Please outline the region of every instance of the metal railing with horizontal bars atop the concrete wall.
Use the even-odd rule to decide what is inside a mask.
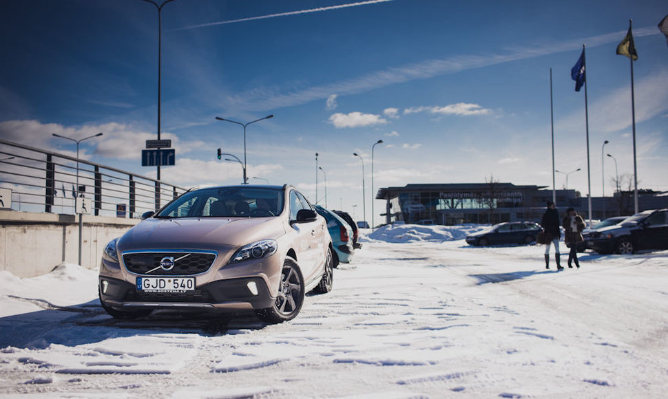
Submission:
[[[0,140],[0,188],[12,190],[12,210],[76,213],[76,193],[90,198],[92,215],[138,218],[157,211],[187,188],[69,155]],[[77,172],[79,190],[76,189]]]

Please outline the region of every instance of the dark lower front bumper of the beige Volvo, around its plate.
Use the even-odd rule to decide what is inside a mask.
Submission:
[[[249,288],[255,286],[255,293]],[[180,309],[189,311],[233,312],[270,308],[275,297],[261,277],[226,279],[179,293],[142,292],[127,281],[100,276],[100,299],[108,308],[120,311],[139,309]]]

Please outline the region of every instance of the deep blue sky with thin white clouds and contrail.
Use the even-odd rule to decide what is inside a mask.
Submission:
[[[82,158],[140,166],[157,138],[157,19],[141,0],[0,3],[0,137],[73,153],[59,133],[101,140]],[[315,153],[330,208],[370,219],[375,189],[410,183],[552,186],[556,169],[587,194],[584,90],[570,69],[587,45],[592,195],[633,172],[629,59],[615,54],[629,18],[640,188],[668,191],[665,1],[175,0],[163,8],[162,133],[176,149],[163,180],[237,184],[248,122],[248,175],[298,186],[315,202]],[[324,203],[325,175],[318,175]],[[264,180],[251,180],[262,183]],[[557,188],[565,176],[556,175]],[[356,205],[357,207],[354,207]],[[375,203],[376,213],[384,211]],[[377,216],[377,222],[379,217]]]

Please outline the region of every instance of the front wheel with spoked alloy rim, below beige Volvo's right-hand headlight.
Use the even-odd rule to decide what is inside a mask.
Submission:
[[[304,277],[295,259],[286,257],[276,301],[271,308],[256,313],[266,323],[283,323],[294,319],[304,303]]]

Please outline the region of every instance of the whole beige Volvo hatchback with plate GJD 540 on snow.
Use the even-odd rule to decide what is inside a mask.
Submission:
[[[99,295],[117,318],[253,309],[280,323],[332,281],[331,237],[304,195],[289,185],[220,186],[188,191],[109,242]]]

